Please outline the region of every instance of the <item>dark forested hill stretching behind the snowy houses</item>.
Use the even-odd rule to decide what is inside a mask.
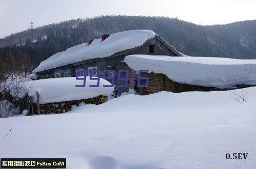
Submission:
[[[68,47],[120,31],[156,32],[180,52],[197,57],[256,59],[256,20],[202,26],[168,17],[101,16],[50,24],[0,39],[0,57],[19,51],[37,66]]]

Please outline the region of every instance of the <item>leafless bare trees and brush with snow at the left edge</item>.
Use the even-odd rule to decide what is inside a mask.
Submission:
[[[12,52],[5,60],[0,58],[0,118],[13,116],[18,111],[18,98],[23,97],[33,85],[32,81],[20,76],[24,74],[19,69],[20,63],[15,62]]]

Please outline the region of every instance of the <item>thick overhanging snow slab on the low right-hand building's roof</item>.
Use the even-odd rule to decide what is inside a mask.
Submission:
[[[128,55],[125,63],[132,69],[163,73],[188,85],[229,88],[256,85],[256,60],[205,57],[169,57],[165,55]]]

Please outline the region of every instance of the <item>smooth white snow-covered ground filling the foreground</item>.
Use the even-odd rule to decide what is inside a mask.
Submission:
[[[242,103],[230,91],[160,92],[0,119],[0,157],[67,158],[67,168],[76,169],[253,168],[256,87],[246,91]],[[226,153],[248,156],[227,160]]]

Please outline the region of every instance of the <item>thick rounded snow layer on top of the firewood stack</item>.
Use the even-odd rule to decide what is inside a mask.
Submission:
[[[49,78],[40,80],[31,80],[19,83],[18,97],[22,98],[28,92],[29,96],[33,96],[36,103],[36,93],[39,93],[39,101],[43,103],[52,103],[69,100],[79,100],[96,97],[99,95],[110,95],[114,88],[103,88],[103,85],[111,85],[109,81],[100,78],[98,88],[91,88],[89,85],[97,85],[97,80],[86,79],[86,87],[77,88],[76,85],[82,85],[83,80],[76,80],[76,77]],[[10,93],[12,94],[11,88]],[[16,95],[17,96],[17,95]]]

